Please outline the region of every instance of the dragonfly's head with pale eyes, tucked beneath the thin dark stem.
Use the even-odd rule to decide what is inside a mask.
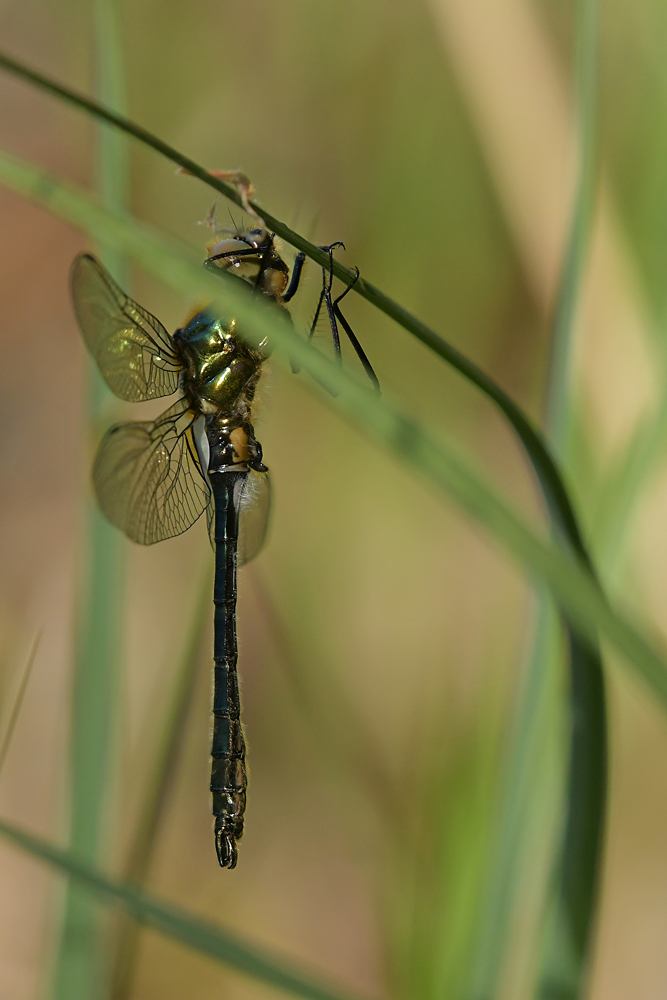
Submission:
[[[207,264],[242,278],[269,298],[277,299],[285,291],[289,268],[276,249],[275,236],[266,229],[234,233],[210,243],[207,252]]]

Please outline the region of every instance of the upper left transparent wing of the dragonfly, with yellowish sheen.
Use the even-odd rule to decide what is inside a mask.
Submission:
[[[86,346],[111,391],[131,403],[176,392],[181,364],[162,323],[91,254],[75,258],[70,285]]]

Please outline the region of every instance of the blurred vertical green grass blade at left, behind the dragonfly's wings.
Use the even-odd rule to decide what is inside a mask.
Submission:
[[[115,0],[95,0],[97,90],[105,103],[123,100],[123,67]],[[128,187],[127,137],[100,124],[98,187],[110,210],[125,208]],[[125,282],[122,255],[99,240],[100,255]],[[89,365],[88,423],[95,436],[104,421],[109,390]],[[72,850],[93,863],[100,861],[108,838],[113,787],[114,730],[121,666],[124,541],[88,500],[84,544],[86,579],[79,600],[78,641],[74,663],[70,747],[70,829]],[[54,1000],[87,1000],[107,995],[105,927],[97,899],[69,883],[60,949],[54,970]]]

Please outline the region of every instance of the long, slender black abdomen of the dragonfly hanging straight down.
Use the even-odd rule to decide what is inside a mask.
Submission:
[[[211,472],[215,500],[215,605],[211,792],[215,848],[223,868],[236,865],[246,800],[245,740],[236,672],[236,546],[247,472]]]

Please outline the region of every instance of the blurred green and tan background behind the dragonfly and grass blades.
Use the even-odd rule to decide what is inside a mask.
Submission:
[[[599,183],[558,450],[609,591],[660,637],[667,15],[657,0],[600,6]],[[571,4],[141,0],[117,12],[134,120],[206,166],[243,169],[259,201],[308,238],[344,240],[344,263],[543,423],[575,182]],[[92,94],[99,23],[87,0],[0,0],[1,47]],[[97,126],[7,76],[0,146],[99,187]],[[136,143],[128,199],[140,219],[203,248],[198,223],[213,192]],[[492,994],[530,996],[562,819],[564,676],[557,637],[536,647],[539,605],[523,574],[342,422],[306,376],[270,366],[257,430],[273,476],[271,535],[239,579],[247,824],[238,868],[220,871],[207,790],[205,526],[147,549],[100,527],[89,470],[102,431],[160,407],[127,407],[94,389],[68,297],[85,238],[4,190],[0,205],[5,726],[38,640],[0,771],[0,815],[66,842],[76,753],[79,766],[81,754],[97,760],[95,723],[74,764],[71,750],[81,730],[75,665],[92,629],[112,671],[91,779],[105,870],[140,877],[369,997],[471,997],[537,648],[532,770]],[[220,225],[227,211],[221,200]],[[235,208],[232,217],[243,221]],[[193,305],[138,270],[125,280],[170,329]],[[319,281],[307,265],[299,323]],[[350,295],[346,306],[383,391],[472,453],[542,525],[530,471],[490,404],[365,302]],[[327,349],[324,327],[317,342]],[[91,569],[95,545],[102,556]],[[95,572],[109,590],[102,624],[90,619]],[[606,663],[611,805],[591,995],[657,1000],[667,989],[667,726],[643,687],[613,657]],[[0,842],[0,883],[0,996],[64,997],[63,922],[75,926],[64,880]],[[81,995],[273,995],[150,931],[133,937],[117,914],[88,905],[99,979]]]

